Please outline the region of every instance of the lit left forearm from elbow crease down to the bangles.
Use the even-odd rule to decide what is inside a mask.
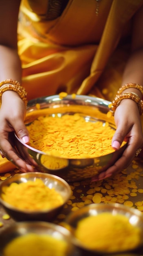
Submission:
[[[0,81],[17,80],[21,83],[22,68],[17,49],[0,45]]]

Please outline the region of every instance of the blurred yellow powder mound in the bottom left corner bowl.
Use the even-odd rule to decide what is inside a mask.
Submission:
[[[31,233],[11,241],[5,247],[3,256],[66,256],[67,249],[64,240]]]

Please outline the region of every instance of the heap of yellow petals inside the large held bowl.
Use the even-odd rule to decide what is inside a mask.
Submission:
[[[64,158],[99,157],[113,152],[113,130],[108,122],[86,122],[79,114],[41,116],[27,126],[30,146]],[[66,163],[57,163],[65,166]]]

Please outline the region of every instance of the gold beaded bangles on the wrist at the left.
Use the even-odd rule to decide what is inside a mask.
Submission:
[[[22,87],[22,85],[20,85],[18,81],[13,79],[7,79],[0,82],[0,106],[2,103],[2,94],[9,90],[17,92],[20,98],[24,101],[25,106],[27,106],[26,90]]]

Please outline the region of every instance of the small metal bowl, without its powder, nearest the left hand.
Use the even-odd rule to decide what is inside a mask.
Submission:
[[[5,186],[9,186],[11,183],[16,182],[18,184],[22,182],[27,182],[29,180],[34,181],[36,178],[41,179],[44,184],[49,187],[50,189],[54,188],[57,193],[59,193],[63,198],[63,204],[58,207],[53,207],[48,210],[22,210],[16,207],[13,207],[11,204],[5,202],[2,199],[2,189]],[[40,173],[40,172],[33,172],[33,173],[21,173],[15,176],[9,177],[3,182],[0,183],[0,203],[7,211],[9,216],[11,216],[14,220],[17,221],[26,221],[26,220],[39,220],[39,221],[51,221],[53,220],[59,211],[62,209],[64,204],[68,201],[71,195],[71,189],[68,183],[63,180],[62,178],[51,175],[48,173]]]

